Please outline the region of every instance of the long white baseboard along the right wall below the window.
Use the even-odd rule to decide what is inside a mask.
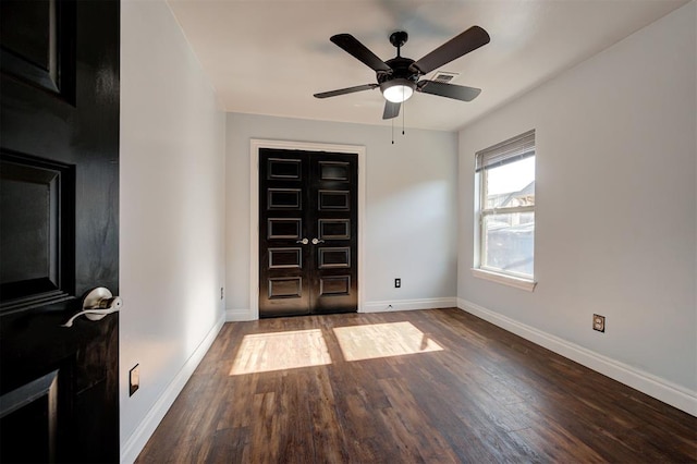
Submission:
[[[697,416],[697,392],[518,322],[463,298],[457,307],[671,406]]]

